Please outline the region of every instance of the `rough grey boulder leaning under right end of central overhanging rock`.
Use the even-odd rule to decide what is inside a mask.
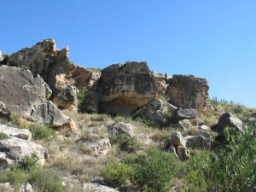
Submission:
[[[139,109],[134,115],[133,118],[140,117],[142,119],[148,119],[153,121],[155,124],[164,126],[170,124],[170,117],[168,114],[172,114],[168,106],[165,106],[165,103],[160,99],[157,99],[153,102],[150,102],[148,106]]]

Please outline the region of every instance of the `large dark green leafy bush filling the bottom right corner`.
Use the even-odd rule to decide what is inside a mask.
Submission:
[[[188,183],[205,186],[207,191],[256,190],[256,136],[253,122],[244,135],[225,131],[224,145],[193,160],[196,177]],[[191,174],[191,173],[190,173]],[[204,179],[200,179],[204,178]]]

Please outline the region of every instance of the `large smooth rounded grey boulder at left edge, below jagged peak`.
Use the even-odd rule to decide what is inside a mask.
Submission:
[[[45,101],[48,85],[32,73],[8,66],[0,66],[0,101],[11,112],[30,116],[35,106]]]

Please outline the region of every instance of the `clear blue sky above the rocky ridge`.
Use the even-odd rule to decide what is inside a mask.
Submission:
[[[148,61],[159,73],[193,74],[210,97],[256,108],[255,0],[0,0],[0,50],[44,38],[71,61],[108,67]]]

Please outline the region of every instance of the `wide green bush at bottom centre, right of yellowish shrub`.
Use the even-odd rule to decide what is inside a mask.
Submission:
[[[172,178],[177,177],[182,170],[181,162],[178,162],[173,154],[158,148],[149,148],[146,154],[127,159],[125,163],[134,171],[131,182],[143,191],[170,191]]]

